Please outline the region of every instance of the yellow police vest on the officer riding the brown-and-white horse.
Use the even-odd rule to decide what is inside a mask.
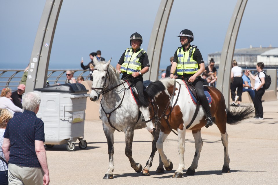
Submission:
[[[177,73],[178,75],[185,74],[194,74],[199,70],[197,61],[193,60],[193,53],[195,52],[197,46],[191,46],[188,51],[183,51],[182,47],[179,47],[177,50],[178,54],[178,66]]]

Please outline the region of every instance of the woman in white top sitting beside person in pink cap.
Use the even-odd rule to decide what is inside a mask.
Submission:
[[[8,109],[12,114],[14,114],[14,112],[22,112],[22,109],[12,102],[11,95],[12,90],[10,88],[3,88],[0,97],[0,108]]]

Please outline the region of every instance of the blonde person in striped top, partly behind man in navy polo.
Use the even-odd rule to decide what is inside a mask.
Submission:
[[[3,136],[12,113],[7,109],[0,109],[0,184],[8,185],[8,164],[2,150]]]

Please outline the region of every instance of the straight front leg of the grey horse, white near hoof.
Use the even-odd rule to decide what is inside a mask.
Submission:
[[[113,129],[108,129],[103,124],[103,131],[107,140],[108,145],[108,155],[109,155],[109,168],[105,173],[103,179],[113,179],[113,171],[114,171],[114,131]]]

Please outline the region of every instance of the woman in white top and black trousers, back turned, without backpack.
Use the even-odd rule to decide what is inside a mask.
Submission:
[[[242,69],[241,67],[237,66],[237,61],[233,60],[233,68],[231,72],[231,81],[233,80],[233,83],[231,84],[231,94],[232,94],[232,104],[231,106],[239,106],[241,102],[241,95],[242,95],[242,89],[243,89],[243,79],[242,79]],[[235,94],[235,90],[237,89],[237,94]],[[236,105],[235,103],[238,102]]]

